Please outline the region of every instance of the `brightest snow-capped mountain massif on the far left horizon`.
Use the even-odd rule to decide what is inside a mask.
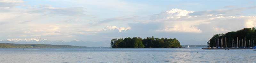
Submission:
[[[7,41],[14,41],[14,42],[51,42],[48,39],[44,38],[30,38],[30,39],[6,39]],[[3,40],[2,40],[3,41]]]

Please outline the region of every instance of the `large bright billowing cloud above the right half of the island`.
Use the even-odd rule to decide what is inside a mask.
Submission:
[[[194,11],[172,9],[160,14],[152,15],[151,21],[160,22],[163,24],[162,29],[156,32],[186,32],[186,33],[201,33],[196,25],[209,23],[201,17],[188,15]]]

